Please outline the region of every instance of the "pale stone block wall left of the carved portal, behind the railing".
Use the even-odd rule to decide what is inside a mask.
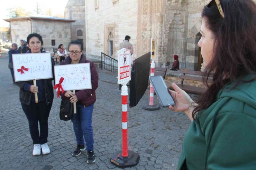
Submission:
[[[117,59],[119,43],[129,35],[134,47],[132,57],[136,58],[138,1],[106,0],[99,1],[95,7],[94,0],[85,1],[87,56],[101,56],[101,52],[109,54],[109,37],[113,36],[113,57]]]

